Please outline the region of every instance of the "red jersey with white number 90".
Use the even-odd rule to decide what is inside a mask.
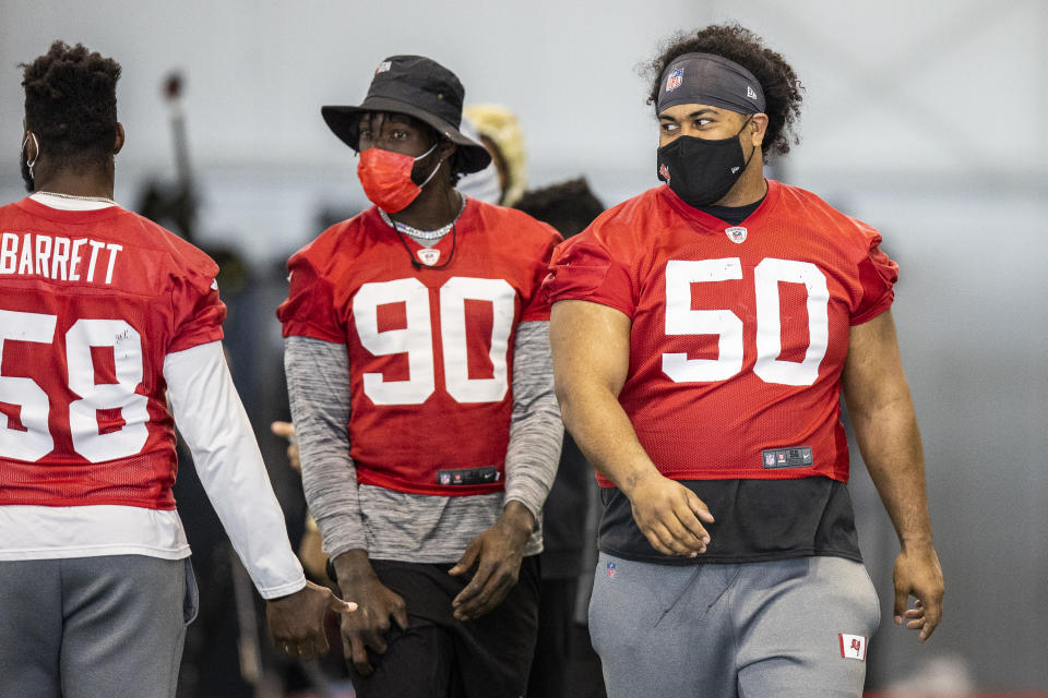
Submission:
[[[358,482],[418,494],[502,489],[516,326],[549,320],[540,288],[559,241],[519,210],[469,198],[433,248],[402,238],[372,207],[290,258],[277,316],[285,337],[346,345]],[[477,468],[492,478],[454,483],[456,470]]]

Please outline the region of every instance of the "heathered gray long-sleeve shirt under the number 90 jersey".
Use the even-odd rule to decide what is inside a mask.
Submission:
[[[455,562],[510,501],[521,502],[538,522],[524,554],[541,552],[543,503],[557,473],[563,434],[553,396],[549,323],[521,323],[513,357],[505,491],[440,496],[357,483],[346,430],[350,366],[345,345],[295,336],[285,340],[306,500],[332,557],[366,550],[372,559]]]

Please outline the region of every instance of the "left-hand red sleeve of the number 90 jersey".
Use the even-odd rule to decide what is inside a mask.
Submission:
[[[290,289],[287,300],[276,309],[284,336],[346,344],[346,328],[335,312],[331,281],[303,252],[291,256],[287,269]]]

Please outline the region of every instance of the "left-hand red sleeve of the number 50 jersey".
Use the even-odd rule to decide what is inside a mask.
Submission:
[[[585,233],[553,251],[549,275],[543,282],[546,301],[580,300],[614,308],[632,317],[636,308],[627,267],[606,245]]]

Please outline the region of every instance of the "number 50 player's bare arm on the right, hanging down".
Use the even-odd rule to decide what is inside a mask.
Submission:
[[[942,616],[943,580],[931,540],[920,432],[891,311],[851,328],[842,385],[862,460],[898,535],[895,623],[905,616],[924,641]],[[910,595],[916,607],[907,611]]]

